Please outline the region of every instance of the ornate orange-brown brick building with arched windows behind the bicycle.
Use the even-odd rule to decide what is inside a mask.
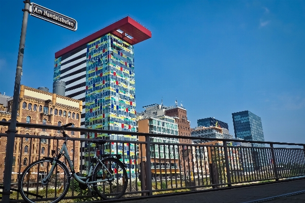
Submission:
[[[0,109],[0,120],[9,121],[11,119],[12,101],[8,101],[8,107]],[[62,95],[56,95],[51,92],[26,87],[21,85],[19,96],[19,107],[17,122],[35,123],[45,125],[64,125],[73,123],[75,127],[80,126],[80,113],[82,111],[82,101],[69,98]],[[0,132],[5,133],[8,126],[0,126]],[[62,136],[57,130],[36,129],[18,127],[18,134],[50,136],[47,139],[16,138],[13,151],[13,170],[12,180],[17,181],[17,174],[22,173],[24,168],[31,162],[44,156],[51,156],[50,151],[57,146],[54,136]],[[66,131],[72,138],[79,138],[77,131]],[[58,142],[60,148],[63,141]],[[3,178],[7,139],[0,137],[0,179]],[[75,151],[73,143],[68,141],[67,148],[71,159],[74,158],[75,171],[79,171],[79,142],[75,142]]]

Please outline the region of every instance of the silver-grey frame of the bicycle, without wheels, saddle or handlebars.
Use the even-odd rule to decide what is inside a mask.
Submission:
[[[93,166],[94,166],[94,164],[92,163],[92,164],[90,164],[90,168],[89,168],[89,172],[88,172],[88,175],[86,176],[86,177],[80,177],[80,176],[78,176],[76,173],[75,173],[75,171],[74,171],[74,166],[73,166],[73,163],[72,163],[72,160],[71,160],[71,158],[70,158],[70,156],[69,156],[69,153],[68,153],[68,149],[67,149],[67,139],[65,140],[65,142],[64,142],[64,144],[63,144],[63,146],[62,146],[62,149],[60,149],[60,151],[59,151],[59,155],[57,155],[55,158],[54,158],[54,160],[53,160],[53,162],[52,162],[52,167],[51,167],[51,169],[50,169],[50,172],[49,172],[49,174],[43,179],[43,181],[45,181],[45,180],[48,180],[50,177],[51,177],[51,175],[53,174],[53,172],[54,172],[54,169],[55,169],[55,166],[56,166],[56,160],[59,160],[59,158],[62,156],[62,155],[64,155],[64,157],[67,159],[67,161],[68,161],[68,164],[69,164],[69,167],[70,167],[70,173],[72,173],[72,176],[74,177],[74,179],[77,181],[77,182],[79,182],[79,183],[81,183],[81,184],[85,184],[85,185],[89,185],[89,184],[95,184],[95,183],[101,183],[101,182],[106,182],[106,181],[112,181],[112,180],[114,180],[114,177],[112,176],[112,174],[109,172],[109,170],[108,170],[108,168],[103,164],[103,162],[97,157],[97,152],[95,151],[95,153],[94,153],[94,158],[96,158],[96,160],[98,160],[101,164],[102,164],[102,166],[103,166],[103,169],[104,170],[106,170],[107,171],[107,173],[109,173],[109,175],[110,175],[110,178],[108,178],[108,179],[104,179],[104,180],[99,180],[99,181],[91,181],[91,182],[89,182],[89,179],[90,179],[90,177],[92,176],[92,172],[93,172]],[[67,167],[67,165],[65,164],[65,163],[63,163],[66,167]],[[96,164],[95,164],[96,165]],[[67,167],[68,168],[68,167]],[[84,181],[85,180],[85,181]]]

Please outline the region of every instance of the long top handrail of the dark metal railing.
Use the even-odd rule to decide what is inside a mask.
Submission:
[[[0,125],[8,126],[8,125],[10,125],[10,121],[0,121]],[[17,122],[16,126],[17,127],[40,128],[40,129],[53,129],[53,130],[62,129],[62,127],[56,126],[56,125],[43,125],[43,124],[20,123],[20,122]],[[109,134],[125,134],[125,135],[133,134],[135,136],[149,135],[149,137],[158,137],[158,138],[178,138],[178,139],[190,139],[190,140],[208,140],[208,141],[273,144],[273,145],[296,145],[296,146],[305,147],[305,144],[301,144],[301,143],[248,141],[248,140],[220,139],[220,138],[199,138],[199,137],[192,137],[192,136],[173,136],[172,134],[155,134],[155,133],[132,132],[132,131],[102,130],[102,129],[81,128],[81,127],[66,127],[65,129],[70,130],[70,131],[84,131],[84,132],[97,132],[97,133],[109,133]]]

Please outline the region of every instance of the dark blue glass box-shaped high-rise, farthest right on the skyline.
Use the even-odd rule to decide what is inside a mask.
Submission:
[[[261,118],[250,111],[232,113],[235,138],[250,141],[265,141]],[[264,144],[253,144],[264,147]]]

